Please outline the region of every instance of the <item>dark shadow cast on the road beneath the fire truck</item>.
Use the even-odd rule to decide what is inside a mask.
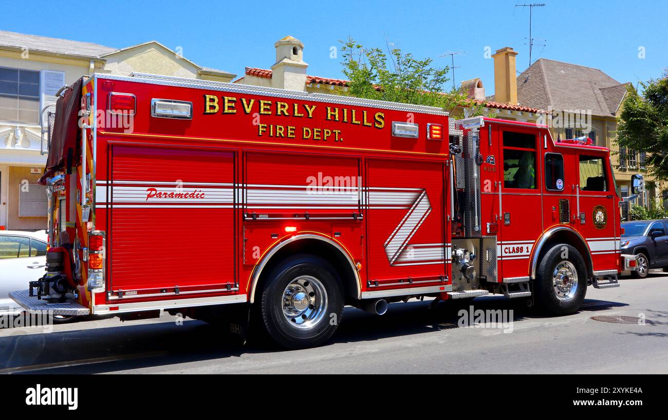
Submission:
[[[393,303],[383,316],[347,307],[345,321],[328,345],[357,343],[457,329],[461,309],[512,309],[514,321],[544,319],[524,299],[480,297],[472,303],[409,301]],[[585,299],[582,312],[626,306],[625,303]],[[81,323],[81,327],[84,324]],[[0,337],[0,373],[105,373],[239,357],[281,353],[267,343],[234,344],[220,327],[202,321],[173,321],[75,329],[53,333]],[[184,368],[186,369],[186,368]],[[248,373],[253,373],[248,372]]]

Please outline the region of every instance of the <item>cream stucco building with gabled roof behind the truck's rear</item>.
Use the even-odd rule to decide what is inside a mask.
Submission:
[[[41,110],[55,94],[92,73],[153,73],[213,81],[236,75],[196,65],[150,41],[122,49],[0,31],[0,229],[45,229],[46,195],[37,185]]]

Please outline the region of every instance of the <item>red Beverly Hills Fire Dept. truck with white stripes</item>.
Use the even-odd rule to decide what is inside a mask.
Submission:
[[[47,273],[11,294],[29,311],[165,310],[242,335],[255,314],[297,348],[345,305],[497,293],[565,314],[635,267],[609,150],[544,125],[93,75],[48,131]]]

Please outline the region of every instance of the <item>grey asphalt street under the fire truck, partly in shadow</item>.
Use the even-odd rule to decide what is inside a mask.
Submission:
[[[668,277],[587,289],[582,310],[545,317],[524,301],[480,297],[475,309],[513,311],[514,322],[460,327],[448,303],[393,303],[381,317],[347,308],[323,347],[240,346],[186,319],[96,319],[0,329],[0,373],[668,373]],[[591,317],[644,319],[643,325]],[[628,320],[628,319],[627,319]],[[512,330],[511,330],[512,328]],[[505,332],[504,332],[505,331]]]

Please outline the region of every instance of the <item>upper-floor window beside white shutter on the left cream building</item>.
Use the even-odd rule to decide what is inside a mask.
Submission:
[[[39,124],[39,71],[0,67],[0,121]]]

